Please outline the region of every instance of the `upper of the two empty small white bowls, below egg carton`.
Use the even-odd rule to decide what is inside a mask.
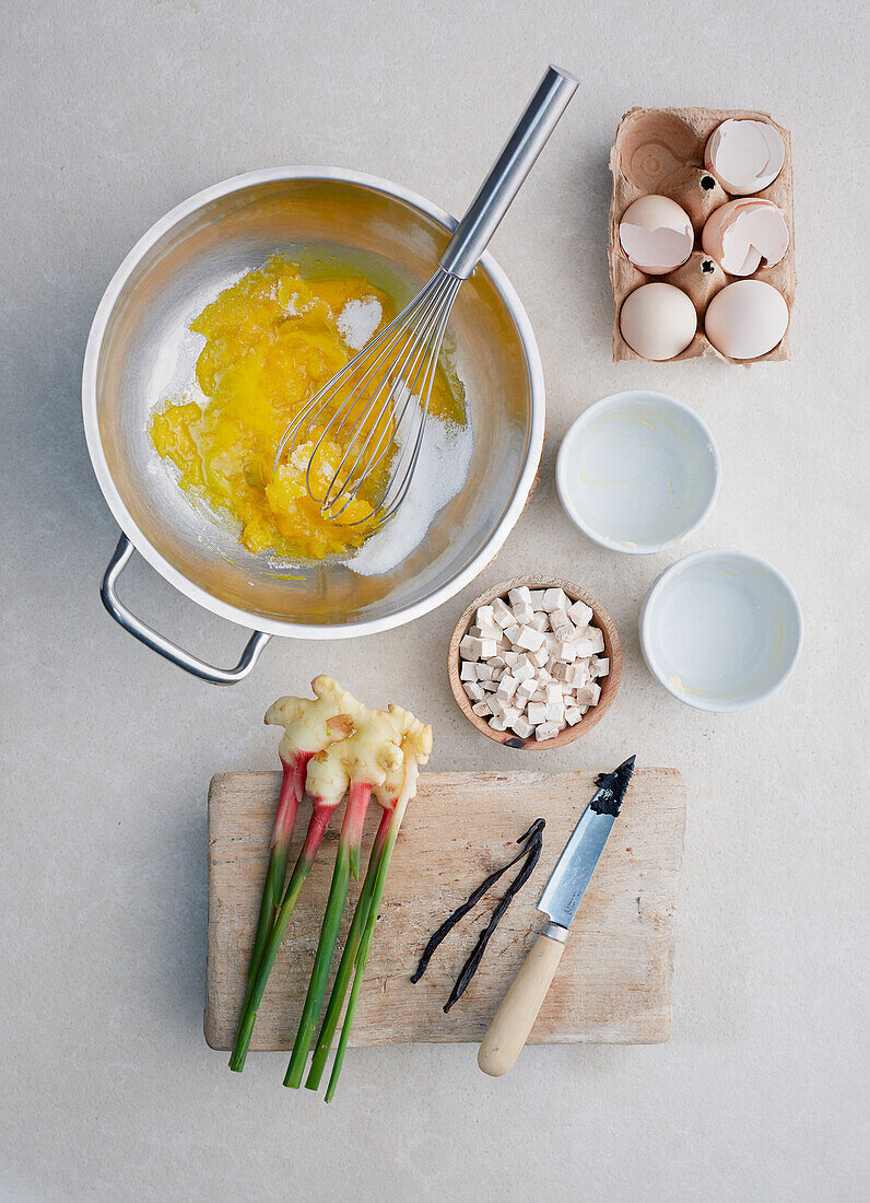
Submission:
[[[559,448],[565,512],[602,547],[633,556],[698,529],[719,492],[719,455],[698,415],[662,392],[615,392],[580,414]]]

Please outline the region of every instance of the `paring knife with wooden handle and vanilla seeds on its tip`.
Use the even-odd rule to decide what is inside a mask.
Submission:
[[[544,885],[537,908],[550,923],[526,954],[477,1053],[478,1066],[493,1078],[507,1073],[537,1019],[562,959],[571,920],[604,851],[633,771],[632,755],[613,772],[596,778],[598,788]]]

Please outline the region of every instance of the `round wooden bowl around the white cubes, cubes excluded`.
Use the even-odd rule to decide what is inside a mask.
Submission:
[[[467,635],[469,627],[473,624],[477,608],[481,605],[489,605],[490,602],[495,600],[495,598],[503,598],[507,600],[508,589],[516,589],[520,585],[525,585],[530,589],[552,589],[561,587],[572,602],[585,602],[585,604],[592,610],[594,624],[600,627],[604,635],[603,654],[610,660],[610,671],[606,677],[601,677],[598,681],[601,685],[601,698],[598,699],[598,704],[596,706],[590,706],[579,723],[574,727],[566,727],[565,730],[554,735],[552,740],[541,740],[540,742],[534,735],[530,739],[522,740],[519,735],[514,735],[511,730],[494,730],[485,718],[481,718],[479,715],[473,712],[471,709],[471,699],[463,689],[463,683],[459,680],[459,664],[461,660],[459,654],[459,644],[465,635]],[[476,727],[482,735],[487,735],[490,740],[495,740],[497,743],[503,743],[510,748],[528,748],[532,752],[546,752],[548,748],[560,748],[566,743],[571,743],[572,740],[579,739],[580,735],[585,735],[586,731],[591,731],[591,729],[604,717],[607,711],[613,705],[613,699],[616,697],[616,692],[619,689],[619,682],[622,678],[622,648],[619,642],[616,628],[614,627],[609,614],[603,609],[603,606],[598,605],[595,598],[586,593],[585,589],[579,588],[577,585],[571,585],[568,581],[559,580],[555,576],[516,576],[511,581],[502,581],[500,585],[494,585],[491,589],[487,589],[485,593],[481,593],[479,597],[475,598],[467,610],[465,610],[461,618],[453,628],[453,634],[451,636],[449,647],[447,650],[447,675],[451,681],[453,697],[457,699],[457,705],[467,721]]]

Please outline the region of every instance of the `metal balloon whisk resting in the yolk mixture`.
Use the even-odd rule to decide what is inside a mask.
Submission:
[[[377,338],[310,398],[284,432],[275,469],[287,448],[291,462],[306,457],[305,487],[330,520],[341,517],[365,481],[375,486],[374,500],[364,517],[348,516],[348,526],[370,522],[375,515],[386,522],[405,499],[419,458],[441,342],[459,286],[477,266],[577,83],[567,72],[548,67],[454,230],[433,278]],[[339,452],[341,458],[333,470]]]

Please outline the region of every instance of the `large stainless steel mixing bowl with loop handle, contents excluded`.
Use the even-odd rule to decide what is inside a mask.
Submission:
[[[441,605],[496,555],[519,517],[541,458],[544,387],[529,319],[490,255],[460,290],[449,337],[473,428],[465,487],[422,544],[391,571],[306,565],[282,580],[191,505],[157,458],[155,405],[192,378],[190,321],[272,253],[303,263],[357,263],[409,296],[429,279],[455,225],[423,197],[359,172],[278,167],[208,188],[157,221],[118,268],[94,318],[82,408],[91,462],[124,535],[102,597],[132,634],[216,683],[240,680],[272,635],[341,639],[387,630]],[[137,618],[117,580],[133,549],[186,597],[255,632],[234,669],[216,669]]]

